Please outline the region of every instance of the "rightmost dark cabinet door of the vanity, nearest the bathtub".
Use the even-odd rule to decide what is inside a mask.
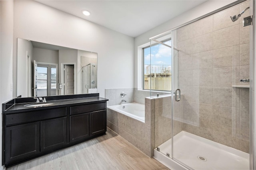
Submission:
[[[95,111],[90,113],[91,121],[90,121],[90,135],[103,135],[107,131],[106,127],[106,110]]]

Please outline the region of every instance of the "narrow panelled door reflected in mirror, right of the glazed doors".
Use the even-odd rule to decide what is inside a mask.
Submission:
[[[74,65],[64,65],[64,95],[74,94]]]

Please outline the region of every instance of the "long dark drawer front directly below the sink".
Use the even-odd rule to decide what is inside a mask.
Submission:
[[[23,113],[6,114],[6,125],[25,123],[31,121],[40,121],[51,119],[54,117],[62,117],[67,115],[66,107],[56,109],[45,109],[38,111],[28,111]]]

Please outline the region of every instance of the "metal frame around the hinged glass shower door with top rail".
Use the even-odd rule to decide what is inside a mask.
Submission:
[[[154,37],[151,37],[150,38],[150,42],[151,40],[154,41],[154,39],[156,39],[157,37],[160,37],[160,36],[163,36],[163,35],[166,35],[168,33],[172,34],[172,31],[174,30],[177,30],[181,27],[184,27],[186,25],[189,25],[190,23],[194,23],[196,21],[199,21],[199,20],[202,20],[208,16],[211,16],[213,14],[216,14],[218,12],[221,12],[223,10],[226,10],[227,8],[230,8],[232,6],[235,6],[237,4],[240,4],[242,2],[245,2],[246,0],[240,0],[240,1],[236,1],[236,2],[233,2],[231,4],[228,4],[222,8],[219,8],[218,10],[214,10],[213,12],[210,12],[208,14],[205,14],[203,16],[200,16],[194,20],[191,20],[191,21],[188,21],[187,23],[184,23],[182,25],[179,25],[178,27],[174,27],[173,29],[170,29],[169,31],[166,31],[164,33],[161,33],[159,35],[156,35]],[[256,2],[254,0],[250,0],[250,16],[253,16],[253,23],[255,24],[256,23],[256,18],[255,18],[255,8],[256,8]],[[255,15],[254,15],[255,14]],[[254,22],[255,21],[255,22]],[[256,149],[255,149],[255,142],[256,142],[256,126],[254,125],[255,122],[256,122],[256,116],[254,115],[254,113],[256,113],[256,107],[254,107],[255,105],[255,98],[256,98],[256,93],[255,93],[255,88],[256,86],[254,85],[254,81],[256,80],[256,74],[254,74],[254,72],[256,71],[255,70],[255,66],[256,66],[256,60],[254,60],[254,56],[256,56],[256,51],[255,51],[255,45],[256,45],[256,34],[255,34],[255,30],[256,30],[256,27],[255,25],[252,24],[252,26],[250,27],[250,91],[249,91],[249,94],[250,94],[250,110],[249,110],[249,114],[250,114],[250,150],[249,150],[249,154],[250,154],[250,169],[256,169]],[[172,37],[173,39],[173,37]],[[172,41],[172,47],[173,46],[173,41]],[[173,49],[172,49],[172,73],[173,73]],[[172,79],[173,80],[173,79]],[[173,88],[173,82],[172,81],[172,88]],[[150,89],[151,90],[151,89]],[[172,98],[173,98],[173,89],[172,89]],[[173,102],[172,102],[173,104]],[[172,107],[172,116],[173,116],[173,107]],[[172,119],[172,126],[173,126],[173,119]],[[172,127],[173,129],[173,127]],[[172,133],[173,134],[173,133]],[[173,136],[172,136],[172,160],[174,160],[175,162],[181,164],[182,166],[188,168],[188,169],[191,169],[190,166],[184,164],[183,162],[180,162],[179,160],[173,158]]]

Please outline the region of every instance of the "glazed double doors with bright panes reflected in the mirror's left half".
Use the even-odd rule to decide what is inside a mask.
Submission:
[[[34,61],[34,96],[58,95],[57,68],[58,64]]]

